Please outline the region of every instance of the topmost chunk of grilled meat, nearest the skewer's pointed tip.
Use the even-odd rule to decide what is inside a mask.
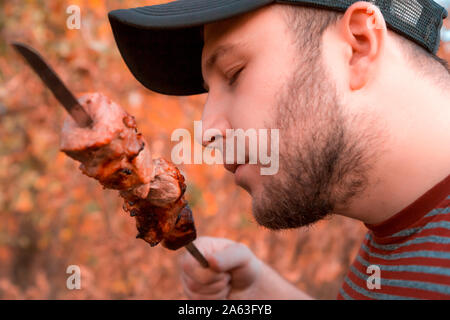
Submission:
[[[94,124],[80,128],[68,117],[61,150],[81,162],[81,171],[108,189],[128,189],[149,183],[153,166],[150,150],[134,118],[100,94],[80,99]]]

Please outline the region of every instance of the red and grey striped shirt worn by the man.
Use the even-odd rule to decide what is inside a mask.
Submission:
[[[450,299],[450,175],[369,229],[338,299]]]

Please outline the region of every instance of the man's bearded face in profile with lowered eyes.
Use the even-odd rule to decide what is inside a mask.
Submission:
[[[352,142],[318,50],[301,52],[282,5],[205,26],[203,129],[279,129],[276,175],[226,165],[271,229],[311,224],[364,186],[364,148]],[[313,44],[312,44],[313,45]]]

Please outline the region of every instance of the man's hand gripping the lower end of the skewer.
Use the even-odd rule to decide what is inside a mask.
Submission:
[[[181,281],[194,300],[252,299],[263,263],[245,245],[201,237],[195,245],[210,264],[203,268],[190,254],[181,256]]]

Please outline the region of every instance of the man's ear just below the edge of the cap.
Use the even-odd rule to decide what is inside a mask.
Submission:
[[[380,9],[369,2],[356,2],[340,22],[342,39],[352,49],[349,67],[350,89],[359,90],[369,81],[387,37]]]

